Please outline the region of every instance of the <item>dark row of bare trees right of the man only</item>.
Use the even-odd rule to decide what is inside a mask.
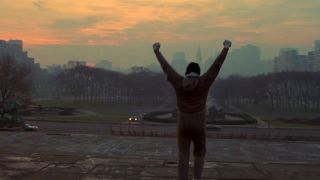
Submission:
[[[219,79],[211,95],[227,103],[274,108],[320,109],[320,72],[280,72]]]

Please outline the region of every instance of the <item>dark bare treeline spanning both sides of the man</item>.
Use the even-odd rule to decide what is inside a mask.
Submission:
[[[174,100],[163,73],[147,69],[130,74],[77,66],[37,79],[38,98],[69,98],[76,103],[160,103]],[[211,96],[227,103],[264,104],[271,108],[320,109],[320,72],[281,72],[218,79]]]

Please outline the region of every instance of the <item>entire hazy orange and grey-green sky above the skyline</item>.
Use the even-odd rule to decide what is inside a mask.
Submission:
[[[224,39],[272,58],[283,47],[313,49],[319,9],[319,0],[0,0],[0,39],[22,39],[43,66],[150,64],[155,41],[169,60],[175,51],[192,60],[199,46],[207,58]]]

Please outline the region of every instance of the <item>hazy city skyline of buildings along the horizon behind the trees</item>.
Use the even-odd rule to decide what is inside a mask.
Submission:
[[[19,62],[27,62],[34,64],[34,58],[28,57],[28,51],[24,51],[22,40],[0,40],[0,55],[9,54],[15,58],[18,58]],[[283,48],[279,50],[279,55],[272,60],[261,59],[261,49],[254,45],[245,45],[240,48],[233,49],[220,72],[221,77],[227,77],[230,75],[241,76],[253,76],[269,72],[281,72],[281,71],[318,71],[319,70],[319,51],[320,40],[314,41],[313,51],[309,51],[308,55],[300,54],[296,48]],[[202,73],[212,65],[215,56],[210,56],[207,59],[202,60],[202,51],[198,47],[196,50],[196,58],[194,62],[199,63]],[[175,52],[172,58],[168,58],[169,63],[173,68],[181,75],[185,72],[185,67],[191,62],[183,51]],[[248,68],[250,64],[251,68]],[[40,64],[35,64],[40,68]],[[102,59],[96,64],[87,62],[86,59],[71,59],[63,64],[51,64],[47,65],[45,69],[48,71],[61,71],[62,69],[73,68],[78,65],[84,65],[88,67],[102,68],[106,70],[113,70],[122,73],[130,73],[133,68],[147,68],[154,72],[160,72],[161,67],[158,63],[140,64],[131,67],[119,68],[114,67],[113,62],[108,59]]]

